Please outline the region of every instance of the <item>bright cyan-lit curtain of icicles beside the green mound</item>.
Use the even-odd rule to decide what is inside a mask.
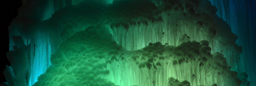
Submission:
[[[19,19],[16,18],[16,24],[19,21]],[[21,22],[23,24],[21,25],[29,25],[25,23],[24,21]],[[29,22],[31,23],[31,21]],[[34,23],[34,25],[36,25]],[[27,31],[24,31],[24,27],[26,26],[18,26],[14,25],[17,27],[10,27],[10,31],[17,31],[17,33],[12,35],[21,35],[21,40],[24,40],[23,44],[29,45],[29,51],[27,51],[29,54],[28,56],[31,57],[29,58],[29,63],[31,63],[31,76],[29,84],[26,86],[30,86],[34,84],[37,81],[37,77],[45,72],[45,70],[51,65],[50,61],[50,54],[54,52],[55,50],[55,45],[52,43],[52,39],[50,38],[49,34],[51,32],[47,32],[44,29],[40,29],[39,25],[36,25],[37,30],[33,30],[35,27],[30,27],[27,28]],[[29,33],[29,34],[28,34]],[[10,36],[12,36],[10,35]],[[56,39],[55,39],[56,40]],[[13,41],[13,40],[10,40]],[[10,44],[13,42],[10,42]],[[15,44],[16,45],[16,44]],[[13,48],[10,48],[13,49]],[[15,56],[15,58],[19,58],[19,56]],[[19,61],[17,63],[20,63]]]

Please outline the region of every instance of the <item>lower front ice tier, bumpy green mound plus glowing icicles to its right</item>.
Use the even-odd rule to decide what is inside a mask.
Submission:
[[[33,86],[240,86],[223,54],[211,54],[208,45],[206,40],[177,47],[156,42],[126,51],[104,26],[91,26],[60,44],[52,66]]]

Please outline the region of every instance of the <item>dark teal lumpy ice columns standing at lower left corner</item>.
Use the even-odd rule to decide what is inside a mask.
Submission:
[[[6,56],[11,66],[6,65],[4,76],[9,86],[28,86],[31,73],[30,45],[26,46],[21,36],[12,36],[15,46]]]

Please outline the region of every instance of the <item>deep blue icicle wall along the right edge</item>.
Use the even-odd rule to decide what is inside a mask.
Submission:
[[[255,81],[255,0],[209,0],[214,6],[218,8],[217,15],[223,18],[233,33],[238,36],[236,43],[243,47],[240,55],[239,71],[247,72],[249,79]],[[252,86],[256,85],[252,82]]]

